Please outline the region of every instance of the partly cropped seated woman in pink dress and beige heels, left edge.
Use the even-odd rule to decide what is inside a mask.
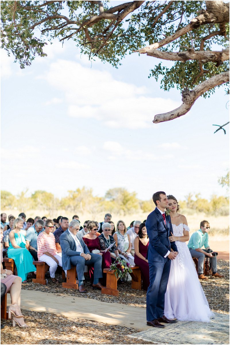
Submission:
[[[22,223],[23,223],[23,220],[22,220]],[[3,238],[3,231],[1,229],[1,241],[2,241],[2,238]],[[5,293],[7,293],[10,290],[11,305],[8,309],[8,318],[9,319],[12,318],[13,327],[15,326],[15,323],[17,323],[19,327],[27,327],[27,325],[24,322],[23,315],[20,309],[20,294],[21,294],[22,279],[18,276],[14,276],[11,270],[3,269],[2,261],[3,259],[2,259],[2,245],[1,245],[1,302],[2,302],[2,284],[3,284],[6,286]],[[3,276],[5,277],[3,278]]]

